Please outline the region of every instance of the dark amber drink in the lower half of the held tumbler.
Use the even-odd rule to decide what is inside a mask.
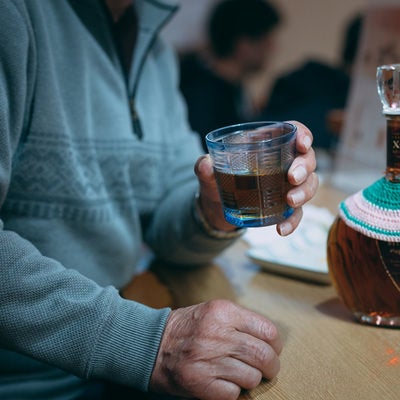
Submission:
[[[228,174],[215,171],[228,222],[238,226],[276,224],[291,213],[286,195],[291,185],[286,174]]]

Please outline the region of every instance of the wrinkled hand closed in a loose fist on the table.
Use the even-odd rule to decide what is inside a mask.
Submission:
[[[201,400],[236,400],[280,367],[282,343],[266,318],[227,300],[171,312],[150,390]]]

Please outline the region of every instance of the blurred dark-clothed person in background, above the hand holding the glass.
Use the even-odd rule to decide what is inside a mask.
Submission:
[[[258,118],[303,121],[314,133],[317,149],[334,151],[343,122],[361,26],[359,15],[346,26],[338,65],[308,60],[278,76]]]

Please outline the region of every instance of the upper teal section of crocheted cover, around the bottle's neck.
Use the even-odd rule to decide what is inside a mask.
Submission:
[[[400,184],[382,178],[363,191],[364,198],[371,204],[387,209],[400,210]]]

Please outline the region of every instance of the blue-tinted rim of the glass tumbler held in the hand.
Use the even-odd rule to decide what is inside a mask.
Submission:
[[[234,143],[226,143],[222,142],[222,139],[231,134],[239,134],[245,131],[256,130],[263,127],[274,127],[277,128],[282,127],[286,128],[287,131],[283,132],[281,135],[277,137],[272,137],[268,139],[258,140],[257,142],[234,142]],[[253,122],[243,122],[239,124],[227,125],[218,129],[214,129],[206,135],[206,143],[208,146],[213,148],[237,148],[243,146],[252,146],[252,147],[260,147],[260,146],[272,146],[274,143],[286,143],[288,142],[294,134],[297,132],[297,126],[291,122],[286,121],[253,121]]]

